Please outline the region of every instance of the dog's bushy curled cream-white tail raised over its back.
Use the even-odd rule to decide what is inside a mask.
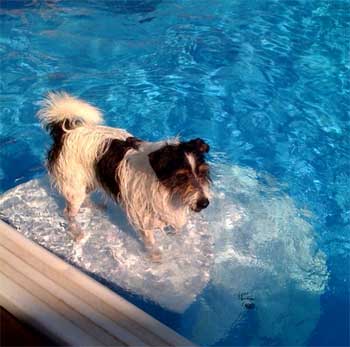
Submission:
[[[37,115],[47,129],[59,126],[63,131],[83,124],[96,125],[102,122],[100,110],[64,92],[49,93],[41,102]]]

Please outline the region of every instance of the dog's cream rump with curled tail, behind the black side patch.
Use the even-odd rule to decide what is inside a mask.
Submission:
[[[67,200],[83,196],[98,185],[95,164],[114,139],[131,136],[122,129],[99,125],[101,112],[66,93],[50,93],[38,112],[53,144],[47,166],[51,179]]]

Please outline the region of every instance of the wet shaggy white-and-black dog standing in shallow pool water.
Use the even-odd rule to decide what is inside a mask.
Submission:
[[[152,248],[155,230],[181,230],[192,211],[209,205],[204,140],[140,140],[101,125],[99,109],[67,93],[49,93],[37,115],[53,140],[47,168],[70,222],[89,193],[99,189],[124,208]]]

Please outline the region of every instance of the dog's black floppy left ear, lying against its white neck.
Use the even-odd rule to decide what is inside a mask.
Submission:
[[[174,148],[164,146],[148,154],[149,162],[159,180],[169,178],[173,172]]]

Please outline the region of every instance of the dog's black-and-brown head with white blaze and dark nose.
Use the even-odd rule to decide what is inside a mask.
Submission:
[[[205,154],[209,145],[202,139],[166,144],[149,154],[150,164],[171,196],[200,212],[209,205],[209,165]]]

